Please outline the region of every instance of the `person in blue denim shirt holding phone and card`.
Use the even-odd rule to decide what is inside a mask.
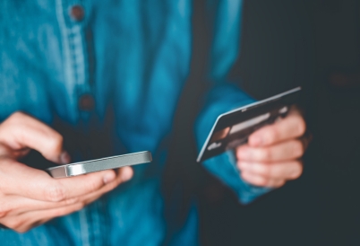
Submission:
[[[213,1],[211,89],[199,145],[219,113],[252,102],[227,73],[238,54],[242,1]],[[19,1],[0,4],[0,237],[2,245],[159,245],[167,236],[160,178],[176,103],[190,73],[190,0]],[[249,144],[203,163],[250,203],[300,176],[298,110]],[[53,179],[23,164],[149,150],[153,162]],[[193,203],[173,245],[196,245]]]

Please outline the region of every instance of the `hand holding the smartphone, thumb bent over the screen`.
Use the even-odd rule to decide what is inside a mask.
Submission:
[[[0,224],[19,233],[78,211],[133,176],[124,167],[54,179],[17,161],[30,149],[55,163],[70,162],[63,137],[39,120],[16,112],[0,124]]]

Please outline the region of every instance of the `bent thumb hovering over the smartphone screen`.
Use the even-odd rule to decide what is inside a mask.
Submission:
[[[25,147],[39,151],[54,163],[69,163],[63,150],[63,136],[38,119],[16,112],[0,125],[0,142],[13,150]]]

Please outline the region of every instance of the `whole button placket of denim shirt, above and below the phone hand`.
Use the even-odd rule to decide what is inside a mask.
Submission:
[[[73,123],[87,120],[95,109],[93,92],[94,54],[88,25],[89,1],[56,0],[56,17],[62,34],[64,84]],[[79,211],[81,245],[104,245],[107,225],[100,201]]]

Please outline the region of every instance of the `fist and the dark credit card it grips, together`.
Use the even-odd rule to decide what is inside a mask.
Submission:
[[[233,150],[242,179],[259,187],[279,188],[303,172],[300,158],[311,138],[299,110],[290,106],[301,88],[219,116],[198,162]]]

